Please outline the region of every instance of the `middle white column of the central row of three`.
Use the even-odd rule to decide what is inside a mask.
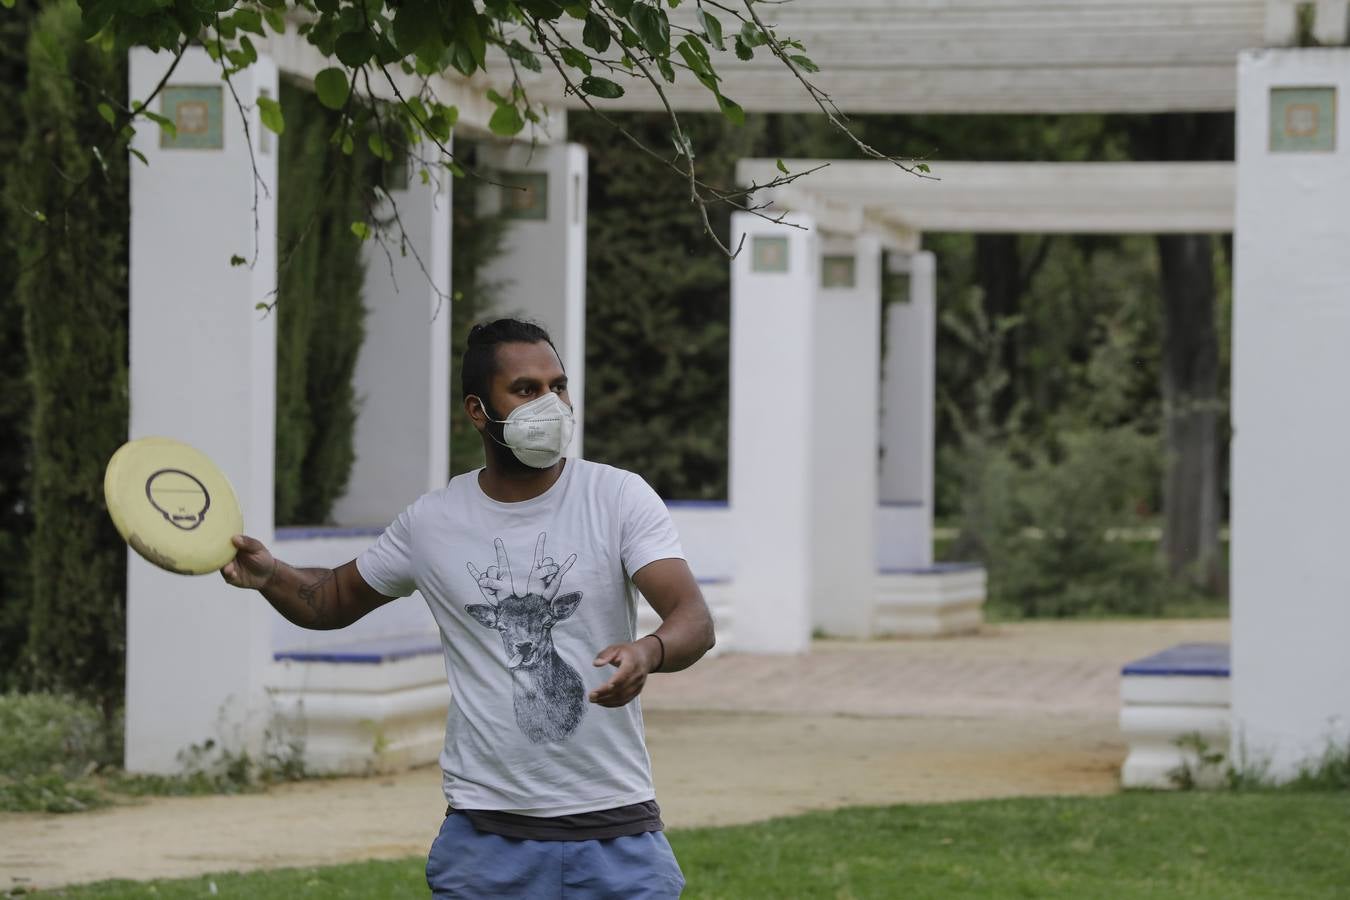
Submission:
[[[801,407],[814,441],[813,625],[865,638],[876,592],[882,247],[872,236],[819,243],[814,399]]]

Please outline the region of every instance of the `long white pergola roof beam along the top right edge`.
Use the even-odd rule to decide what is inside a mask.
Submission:
[[[740,0],[726,7],[741,9]],[[1180,112],[1233,109],[1241,50],[1295,39],[1293,0],[792,0],[756,4],[821,67],[809,76],[849,113]],[[1339,43],[1345,4],[1319,0],[1318,36]],[[716,7],[724,31],[740,23]],[[1336,16],[1339,15],[1339,20]],[[671,12],[697,28],[694,4]],[[1339,26],[1338,26],[1339,22]],[[579,34],[579,23],[575,23]],[[765,49],[714,54],[722,90],[744,108],[818,108]],[[533,80],[560,94],[556,74]],[[687,80],[663,85],[676,109],[716,111]],[[579,99],[567,99],[582,108]],[[633,81],[606,108],[662,109]]]

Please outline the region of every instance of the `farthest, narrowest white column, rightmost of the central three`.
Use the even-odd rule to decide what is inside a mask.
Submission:
[[[937,300],[933,254],[892,256],[909,271],[906,301],[886,309],[882,374],[882,568],[933,563],[933,409]]]

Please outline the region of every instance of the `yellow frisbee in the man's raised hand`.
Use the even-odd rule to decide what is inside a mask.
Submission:
[[[169,437],[123,444],[103,476],[117,533],[136,553],[178,575],[215,572],[235,557],[239,498],[205,453]]]

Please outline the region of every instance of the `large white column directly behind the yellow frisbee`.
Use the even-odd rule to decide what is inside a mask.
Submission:
[[[131,53],[131,97],[147,97],[167,54]],[[277,97],[269,58],[234,77],[189,50],[153,108],[178,138],[140,125],[131,163],[131,437],[165,434],[211,456],[239,494],[244,528],[273,537],[277,270],[275,140],[255,108]],[[258,178],[255,184],[254,165]],[[254,204],[256,202],[256,221]],[[250,264],[231,266],[232,255]],[[190,743],[256,750],[271,611],[216,575],[170,575],[128,555],[126,766],[169,772]]]

